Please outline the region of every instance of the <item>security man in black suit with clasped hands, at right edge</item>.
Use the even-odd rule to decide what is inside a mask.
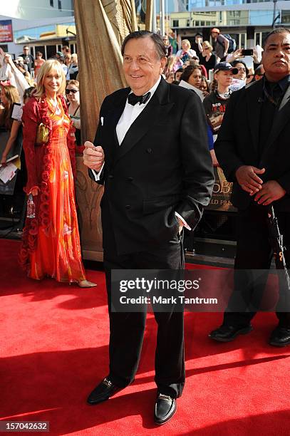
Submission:
[[[214,150],[238,208],[234,292],[224,322],[210,333],[216,341],[232,341],[252,331],[251,320],[261,301],[271,265],[268,213],[273,206],[290,265],[290,31],[276,28],[266,36],[262,58],[264,78],[235,92],[229,100]],[[266,270],[259,283],[254,271]],[[290,344],[289,308],[276,306],[278,326],[272,346]],[[239,311],[239,307],[241,310]]]

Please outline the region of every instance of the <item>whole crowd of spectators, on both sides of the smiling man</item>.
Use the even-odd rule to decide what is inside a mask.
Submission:
[[[213,144],[217,137],[219,125],[222,123],[227,100],[234,90],[261,79],[264,75],[264,69],[260,63],[261,56],[259,57],[255,48],[253,49],[252,66],[248,67],[248,63],[244,62],[242,48],[231,50],[229,36],[222,35],[218,28],[212,28],[211,36],[211,42],[203,41],[202,35],[197,33],[193,44],[188,39],[183,39],[181,48],[176,50],[172,39],[165,35],[162,40],[165,43],[167,63],[163,77],[168,83],[191,89],[203,100],[208,121],[209,149],[212,154],[212,162],[213,165],[218,165]],[[174,54],[175,51],[177,52]],[[78,56],[76,53],[71,53],[68,46],[63,46],[61,51],[56,51],[53,58],[61,63],[66,75],[66,100],[70,106],[68,112],[75,123],[77,143],[81,145],[80,100],[77,81]],[[17,101],[23,102],[24,91],[36,86],[38,70],[45,61],[41,51],[36,52],[34,59],[29,46],[24,46],[23,53],[15,60],[12,60],[8,53],[0,51],[1,88],[4,88],[5,85],[14,87],[19,95]],[[4,91],[1,95],[5,101]],[[3,100],[0,106],[1,125],[4,125],[4,118],[7,118],[7,110],[4,108]],[[11,131],[11,126],[9,130]],[[11,141],[9,148],[10,146]],[[5,153],[7,155],[7,152]],[[5,155],[0,156],[0,158],[2,163],[6,159]]]

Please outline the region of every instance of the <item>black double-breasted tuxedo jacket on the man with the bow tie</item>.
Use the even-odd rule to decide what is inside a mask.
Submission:
[[[195,228],[214,180],[200,98],[162,78],[119,145],[115,128],[129,93],[120,89],[105,98],[94,140],[105,152],[103,247],[118,254],[176,237],[175,211]]]

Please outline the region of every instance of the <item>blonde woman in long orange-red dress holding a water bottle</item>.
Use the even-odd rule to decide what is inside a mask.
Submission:
[[[75,137],[63,97],[66,77],[61,63],[49,60],[38,71],[36,93],[24,106],[24,152],[35,217],[26,218],[21,264],[32,279],[95,286],[86,280],[73,176]]]

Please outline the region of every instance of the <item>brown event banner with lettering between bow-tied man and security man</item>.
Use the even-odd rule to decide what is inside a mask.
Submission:
[[[236,212],[237,209],[232,205],[232,183],[227,182],[224,177],[224,172],[220,167],[214,167],[214,189],[212,191],[212,198],[207,210],[218,210],[219,212]]]

